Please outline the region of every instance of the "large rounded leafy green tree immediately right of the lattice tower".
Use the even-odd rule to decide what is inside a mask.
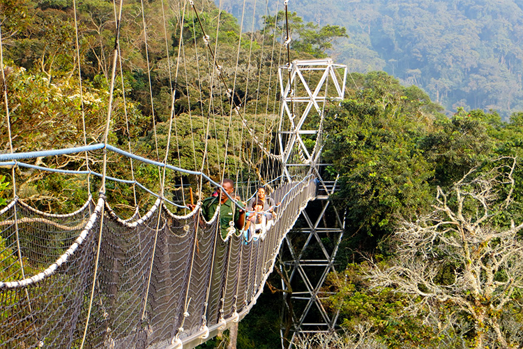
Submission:
[[[437,107],[385,73],[361,78],[361,89],[331,110],[324,157],[342,177],[338,196],[349,208],[347,221],[356,231],[382,235],[393,229],[396,216],[430,202],[433,168],[418,140],[428,133],[429,112]]]

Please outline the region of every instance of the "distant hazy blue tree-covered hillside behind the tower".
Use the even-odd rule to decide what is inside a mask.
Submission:
[[[220,2],[241,18],[237,1]],[[265,6],[258,2],[255,13]],[[523,110],[520,1],[292,0],[289,9],[305,22],[346,28],[348,38],[329,54],[352,72],[384,70],[422,88],[447,114],[464,107],[508,119]]]

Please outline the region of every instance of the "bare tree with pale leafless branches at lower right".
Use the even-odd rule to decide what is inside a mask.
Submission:
[[[410,295],[407,309],[428,314],[442,336],[452,329],[454,348],[513,348],[523,339],[523,222],[505,216],[516,161],[485,167],[450,191],[438,188],[434,211],[403,221],[393,235],[390,265],[367,274],[375,287]]]

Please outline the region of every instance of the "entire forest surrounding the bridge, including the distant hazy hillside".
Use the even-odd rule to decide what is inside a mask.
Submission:
[[[121,109],[114,114],[109,140],[124,147],[132,139],[135,153],[159,158],[158,154],[167,149],[169,106],[173,103],[179,148],[167,154],[169,163],[198,168],[204,163],[203,154],[208,150],[211,155],[204,164],[211,177],[219,178],[223,171],[259,180],[267,166],[254,154],[257,144],[238,136],[244,131],[243,124],[239,119],[229,119],[227,112],[234,103],[241,105],[248,124],[262,136],[261,143],[275,149],[272,136],[278,122],[278,107],[270,102],[271,98],[278,97],[279,90],[274,72],[278,66],[288,63],[287,57],[280,54],[285,48],[286,31],[282,13],[266,13],[259,27],[240,32],[243,24],[220,11],[212,1],[196,2],[201,6],[202,26],[195,25],[194,15],[180,8],[169,8],[168,31],[162,28],[160,1],[147,3],[145,11],[150,18],[147,30],[151,33],[147,43],[136,35],[143,29],[139,20],[142,9],[138,3],[124,6],[126,21],[121,28],[120,48],[125,59],[123,74],[116,80],[118,87],[113,103],[121,106],[124,98],[128,98],[128,110],[126,115]],[[233,2],[238,3],[225,1],[225,6]],[[337,260],[338,274],[331,275],[329,285],[338,297],[329,299],[326,306],[340,307],[347,337],[356,338],[358,329],[363,328],[365,333],[372,333],[372,339],[381,346],[397,347],[402,343],[416,347],[420,343],[437,343],[444,348],[447,339],[465,347],[479,340],[487,343],[493,338],[515,343],[522,332],[522,278],[517,274],[522,268],[517,265],[515,270],[509,263],[506,269],[503,266],[489,269],[494,275],[487,278],[492,281],[486,283],[487,286],[506,287],[510,294],[499,289],[490,293],[468,290],[467,283],[455,281],[460,278],[462,281],[465,266],[472,262],[476,262],[479,269],[488,269],[489,266],[485,266],[488,262],[492,266],[490,255],[498,253],[500,247],[508,246],[504,251],[509,252],[521,248],[523,112],[519,110],[523,110],[520,88],[523,66],[521,51],[515,47],[522,30],[520,8],[511,1],[498,1],[497,5],[487,1],[333,0],[324,1],[322,6],[312,0],[291,3],[296,8],[300,6],[303,18],[301,13],[290,13],[293,37],[290,59],[326,57],[338,52],[337,61],[347,63],[351,69],[346,98],[340,105],[326,107],[324,124],[323,155],[324,161],[330,164],[326,177],[339,174],[340,191],[333,201],[347,209],[344,216],[347,234]],[[344,12],[347,8],[351,10],[350,15]],[[79,55],[75,52],[70,1],[0,0],[0,10],[15,151],[83,144],[79,113],[82,103],[88,130],[86,142],[100,142],[109,108],[106,91],[114,47],[111,4],[87,0],[79,5]],[[307,17],[313,10],[318,17]],[[327,13],[330,14],[328,20]],[[340,20],[344,16],[349,19],[345,24]],[[215,20],[217,18],[220,21]],[[321,19],[320,23],[317,18]],[[206,36],[218,27],[222,35]],[[229,80],[234,79],[234,90],[225,91],[212,79],[215,67],[206,51],[205,40],[215,40],[213,43],[219,47],[218,60],[224,62],[220,73]],[[271,46],[276,48],[270,51],[267,47]],[[178,52],[186,55],[177,55]],[[252,56],[255,59],[251,59],[251,52],[256,53]],[[169,57],[177,58],[172,61]],[[199,70],[192,57],[197,57],[205,69]],[[77,63],[82,68],[80,76],[75,73]],[[183,71],[183,79],[171,79],[169,68],[176,65]],[[382,69],[386,71],[379,71]],[[354,73],[355,70],[362,73]],[[252,82],[253,77],[256,84]],[[82,81],[81,88],[78,80]],[[172,89],[177,91],[173,101]],[[83,93],[82,101],[79,91]],[[265,124],[257,119],[259,110],[263,110]],[[454,112],[446,115],[449,110]],[[4,109],[0,112],[0,145],[5,151],[9,140],[2,113]],[[225,117],[215,119],[216,115]],[[211,120],[215,121],[212,132],[201,136]],[[38,128],[34,127],[35,121]],[[129,128],[127,121],[131,124]],[[200,136],[194,137],[195,134]],[[157,144],[154,144],[155,138]],[[36,159],[35,163],[38,161],[43,160]],[[45,161],[45,165],[54,168],[77,170],[85,166],[81,157]],[[115,164],[112,176],[129,176],[128,163],[117,157],[109,161]],[[503,165],[498,168],[492,165],[495,163]],[[92,166],[99,168],[100,162],[94,161]],[[7,182],[12,179],[9,174],[3,177],[4,172],[0,174],[0,191],[7,197]],[[469,175],[471,173],[476,177]],[[31,171],[17,174],[22,179],[18,193],[21,198],[30,201],[35,193],[46,194],[45,200],[36,204],[40,209],[70,211],[86,197],[86,188],[79,181],[63,181],[54,175],[40,177]],[[151,188],[158,189],[158,172],[152,168],[140,166],[137,176]],[[491,192],[481,192],[484,199],[496,197],[487,202],[494,211],[487,210],[487,218],[480,222],[485,222],[480,225],[481,229],[469,229],[469,237],[483,240],[472,239],[470,244],[468,240],[461,240],[461,243],[476,244],[472,255],[486,253],[485,258],[463,260],[458,258],[459,248],[446,250],[446,246],[437,244],[444,239],[455,244],[459,240],[455,230],[446,235],[450,230],[446,230],[447,225],[441,230],[438,220],[453,216],[456,209],[460,211],[457,197],[462,193],[467,193],[469,198],[480,198],[471,188],[483,178],[492,183],[499,179],[503,185],[496,183],[492,196]],[[456,185],[460,183],[464,185]],[[167,179],[166,195],[175,198],[175,189],[180,184],[179,178]],[[114,185],[108,192],[109,199],[119,202],[121,210],[131,211],[132,193],[128,188]],[[66,195],[73,200],[67,200]],[[144,197],[139,195],[138,201],[146,206]],[[453,227],[468,229],[468,225],[476,222],[475,215],[482,212],[481,200],[479,205],[476,201],[465,203],[462,211],[468,216],[457,219]],[[0,204],[5,204],[5,200],[0,200]],[[427,227],[430,234],[418,234],[420,250],[409,251],[410,235],[406,238],[401,232],[420,232]],[[491,232],[497,234],[494,239]],[[436,238],[430,240],[432,237]],[[430,244],[426,243],[427,239]],[[427,252],[430,248],[433,251]],[[435,274],[430,274],[427,268],[412,267],[432,279],[418,280],[406,277],[407,273],[391,272],[404,267],[401,262],[409,260],[412,253],[421,260],[432,258]],[[517,253],[508,255],[519,257]],[[395,261],[397,256],[401,258]],[[501,256],[503,258],[503,254]],[[411,262],[419,262],[416,258],[411,258]],[[365,262],[360,263],[363,260]],[[386,279],[386,272],[393,279]],[[473,272],[469,269],[465,272],[471,278]],[[517,285],[514,287],[508,282],[508,272],[515,275]],[[483,276],[485,274],[478,272],[480,281],[485,281]],[[425,284],[422,281],[426,281]],[[450,288],[454,284],[457,290]],[[442,289],[461,292],[465,306],[458,302],[460,299],[447,302]],[[423,299],[431,290],[434,295],[443,294],[443,300]],[[486,299],[490,295],[501,297],[499,299],[510,307],[489,313],[485,310],[487,306],[499,306],[497,299]],[[273,304],[265,306],[265,309],[272,308],[266,315],[270,315],[274,323],[277,316]],[[464,309],[467,306],[476,308]],[[432,310],[435,315],[430,314]],[[448,326],[449,321],[452,326]],[[260,323],[262,327],[264,324]],[[439,331],[439,325],[444,326],[446,332]],[[256,330],[252,326],[245,329],[245,333],[250,331],[255,336],[252,332]],[[498,330],[512,332],[502,337]],[[279,345],[280,338],[275,341]],[[251,342],[245,339],[248,343],[245,348],[261,348]],[[274,346],[269,343],[267,348]]]

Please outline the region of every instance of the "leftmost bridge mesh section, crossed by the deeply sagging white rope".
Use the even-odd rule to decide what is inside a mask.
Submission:
[[[1,223],[10,223],[17,209],[20,249],[26,277],[36,277],[54,263],[84,228],[89,218],[84,209],[72,216],[52,217],[14,205],[4,211]],[[7,218],[7,219],[6,219]],[[96,222],[91,230],[96,230]],[[17,255],[13,226],[2,224],[0,251],[2,287],[0,287],[0,343],[2,348],[72,348],[81,339],[85,319],[84,295],[93,273],[94,235],[87,232],[67,262],[44,279],[26,287],[7,288],[6,283],[21,279],[20,265],[11,261]],[[6,267],[10,269],[6,269]]]

